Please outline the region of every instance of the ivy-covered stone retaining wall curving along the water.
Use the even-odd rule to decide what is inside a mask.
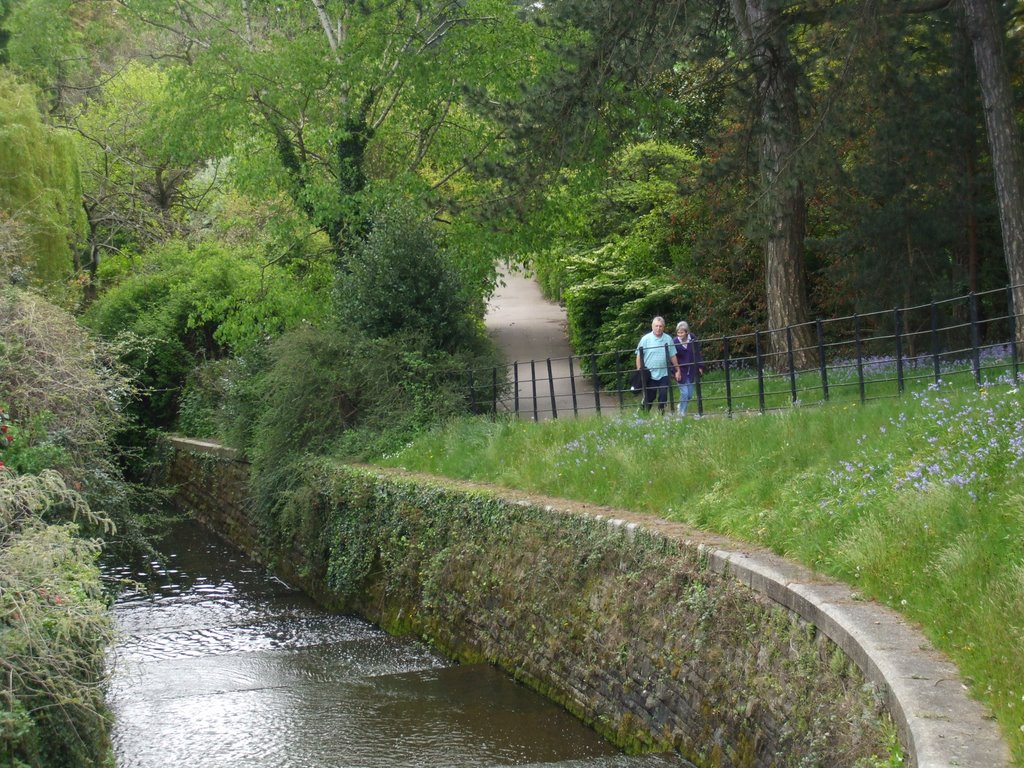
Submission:
[[[246,466],[177,443],[178,504],[330,607],[489,662],[629,751],[698,766],[887,765],[892,727],[813,626],[618,521],[312,462],[256,520]]]

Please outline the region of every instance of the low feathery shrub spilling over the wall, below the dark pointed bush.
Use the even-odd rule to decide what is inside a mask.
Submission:
[[[229,406],[230,435],[252,461],[267,529],[279,527],[272,520],[309,456],[377,457],[466,413],[464,372],[480,354],[429,351],[401,336],[336,327],[304,327],[272,343]]]

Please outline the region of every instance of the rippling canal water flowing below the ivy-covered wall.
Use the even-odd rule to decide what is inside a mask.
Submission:
[[[487,665],[321,610],[196,523],[114,607],[120,768],[664,768]]]

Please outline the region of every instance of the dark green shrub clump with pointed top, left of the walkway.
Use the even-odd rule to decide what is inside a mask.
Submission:
[[[228,441],[249,457],[264,530],[309,457],[391,453],[471,403],[466,371],[499,362],[474,300],[425,222],[384,210],[337,280],[338,317],[241,360],[227,385]]]

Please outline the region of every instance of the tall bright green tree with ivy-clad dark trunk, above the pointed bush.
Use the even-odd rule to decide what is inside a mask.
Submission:
[[[502,56],[526,40],[502,0],[124,6],[174,32],[180,134],[230,155],[248,191],[289,195],[342,265],[381,182],[440,210],[475,184],[501,135],[466,86],[507,95],[529,66]]]

